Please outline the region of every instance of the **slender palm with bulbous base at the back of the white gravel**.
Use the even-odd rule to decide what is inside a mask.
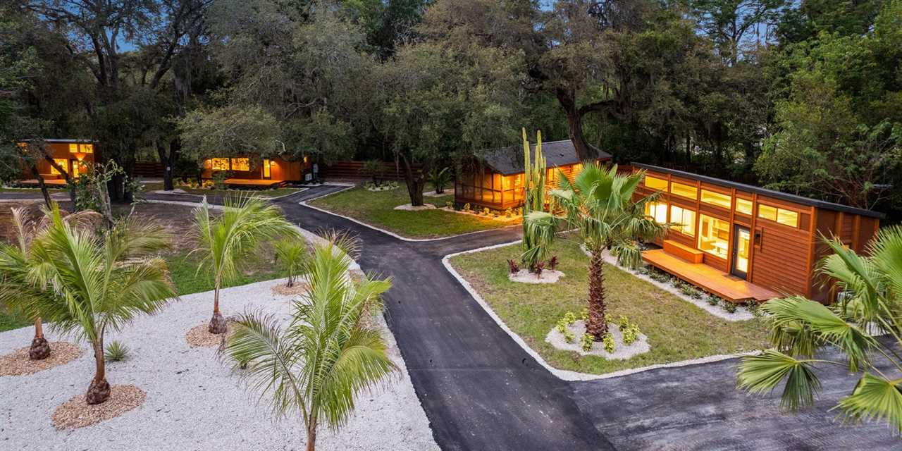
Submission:
[[[207,198],[194,209],[198,227],[198,252],[203,259],[198,272],[207,268],[213,278],[213,318],[211,334],[226,332],[226,321],[219,313],[219,289],[223,283],[234,279],[242,262],[256,252],[264,241],[278,236],[297,237],[298,230],[285,220],[278,207],[261,198],[226,198],[223,213],[210,214]]]

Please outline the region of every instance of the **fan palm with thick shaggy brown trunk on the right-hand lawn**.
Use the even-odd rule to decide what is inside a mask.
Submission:
[[[589,318],[586,332],[601,340],[608,332],[604,321],[606,302],[604,295],[603,252],[610,250],[617,261],[630,267],[641,262],[639,239],[652,239],[667,231],[667,226],[658,224],[645,216],[646,202],[658,197],[633,200],[633,193],[645,177],[642,171],[630,175],[617,173],[617,166],[604,169],[597,162],[584,163],[584,169],[574,180],[559,174],[560,189],[552,189],[549,194],[556,199],[564,216],[534,211],[526,217],[529,227],[548,230],[563,221],[577,230],[585,249],[591,254],[589,260]],[[547,233],[547,232],[546,232]]]

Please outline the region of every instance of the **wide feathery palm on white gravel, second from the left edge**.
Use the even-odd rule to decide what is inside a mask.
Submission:
[[[140,313],[153,313],[175,296],[166,262],[149,257],[167,246],[161,226],[133,216],[116,220],[102,235],[63,221],[59,207],[50,225],[32,243],[30,278],[55,293],[32,299],[34,310],[55,327],[85,339],[94,350],[95,373],[88,404],[109,398],[104,335]]]

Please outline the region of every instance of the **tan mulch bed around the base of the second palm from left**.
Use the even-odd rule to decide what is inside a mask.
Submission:
[[[53,426],[57,429],[91,426],[133,410],[146,399],[147,393],[134,385],[113,385],[110,387],[109,399],[93,406],[85,402],[85,395],[78,395],[53,411]]]

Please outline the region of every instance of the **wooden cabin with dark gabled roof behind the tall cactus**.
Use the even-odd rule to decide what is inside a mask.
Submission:
[[[532,150],[535,152],[535,144]],[[596,161],[610,161],[611,154],[595,149]],[[534,153],[532,153],[534,154]],[[558,170],[573,179],[583,169],[570,140],[542,143],[542,154],[548,166],[546,180],[557,188]],[[511,146],[477,152],[457,175],[454,197],[457,205],[471,204],[496,210],[523,205],[523,147]]]

